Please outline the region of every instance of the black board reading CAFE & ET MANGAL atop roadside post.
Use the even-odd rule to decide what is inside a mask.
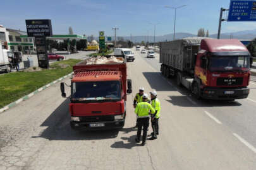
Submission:
[[[51,37],[51,20],[26,20],[28,37]]]

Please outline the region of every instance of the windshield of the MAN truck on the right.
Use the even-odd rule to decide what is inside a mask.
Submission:
[[[215,56],[210,58],[210,71],[248,71],[250,56]]]

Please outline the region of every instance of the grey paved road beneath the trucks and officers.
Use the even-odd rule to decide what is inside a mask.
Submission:
[[[256,83],[248,99],[198,101],[161,76],[159,55],[146,59],[133,52],[133,93],[122,130],[71,130],[69,101],[56,84],[0,114],[0,169],[256,169]],[[162,106],[159,138],[144,147],[135,143],[132,128],[140,86],[147,93],[155,89]]]

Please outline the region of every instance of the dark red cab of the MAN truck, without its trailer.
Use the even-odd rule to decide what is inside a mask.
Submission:
[[[250,53],[236,39],[201,41],[197,54],[193,93],[206,99],[247,98]]]

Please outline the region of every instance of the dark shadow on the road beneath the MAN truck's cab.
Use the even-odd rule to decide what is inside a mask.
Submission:
[[[217,101],[217,100],[204,100],[193,99],[197,104],[188,101],[188,96],[168,96],[169,103],[181,107],[224,107],[224,106],[241,106],[238,101]]]

